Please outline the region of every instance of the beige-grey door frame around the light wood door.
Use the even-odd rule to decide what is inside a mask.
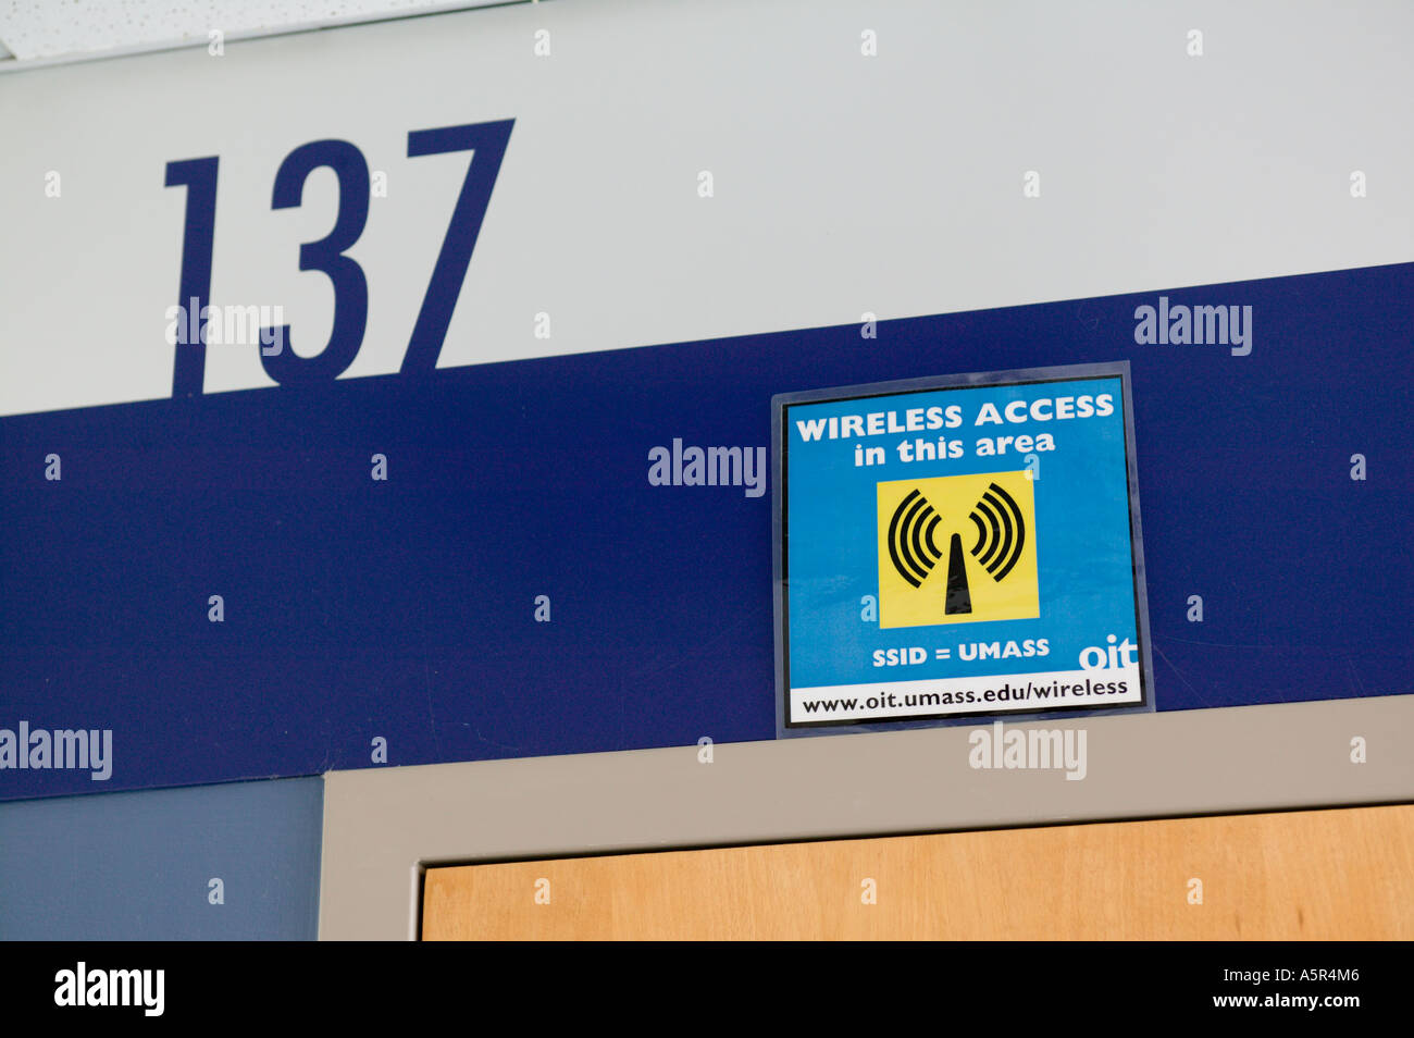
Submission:
[[[329,772],[320,938],[416,939],[440,864],[1414,802],[1414,696],[1012,728],[1083,730],[1086,776],[971,766],[990,721]]]

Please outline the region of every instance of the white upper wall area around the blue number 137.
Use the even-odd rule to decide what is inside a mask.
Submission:
[[[0,414],[170,395],[175,158],[221,156],[212,301],[321,345],[297,255],[334,177],[270,191],[322,137],[389,178],[345,378],[396,371],[465,171],[406,134],[489,119],[516,129],[444,366],[1410,260],[1411,41],[1400,0],[564,0],[11,74]],[[263,385],[211,351],[206,392]]]

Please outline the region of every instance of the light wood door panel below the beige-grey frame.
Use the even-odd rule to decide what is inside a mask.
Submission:
[[[423,936],[1408,940],[1411,901],[1390,806],[430,868]]]

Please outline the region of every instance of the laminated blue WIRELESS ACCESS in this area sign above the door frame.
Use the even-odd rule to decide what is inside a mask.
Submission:
[[[1152,708],[1128,365],[773,404],[781,734]]]

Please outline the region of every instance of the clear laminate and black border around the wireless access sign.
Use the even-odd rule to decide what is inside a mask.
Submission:
[[[830,403],[836,400],[868,400],[878,396],[902,396],[939,389],[984,389],[987,386],[1024,386],[1044,382],[1073,382],[1076,379],[1117,378],[1120,380],[1124,407],[1124,465],[1130,488],[1130,563],[1134,590],[1134,626],[1140,639],[1140,700],[1121,706],[1096,704],[1092,707],[1017,707],[997,708],[986,713],[954,711],[946,714],[923,714],[908,718],[878,721],[795,721],[788,723],[790,700],[790,628],[789,628],[789,573],[788,573],[788,465],[786,420],[790,407],[803,403]],[[933,378],[902,379],[896,382],[874,382],[857,386],[836,386],[831,389],[809,389],[795,393],[776,393],[771,397],[771,453],[775,461],[772,479],[771,513],[773,539],[771,552],[772,595],[775,598],[775,649],[776,649],[776,738],[846,734],[853,731],[894,731],[908,728],[937,727],[942,721],[976,718],[978,724],[998,720],[1001,714],[1017,716],[1017,720],[1036,717],[1072,717],[1083,714],[1117,714],[1154,710],[1154,662],[1150,655],[1148,594],[1144,583],[1144,535],[1140,526],[1140,481],[1134,451],[1134,402],[1130,392],[1130,362],[1110,361],[1104,363],[1077,363],[1059,368],[1019,368],[1000,372],[973,372],[967,375],[939,375]]]

